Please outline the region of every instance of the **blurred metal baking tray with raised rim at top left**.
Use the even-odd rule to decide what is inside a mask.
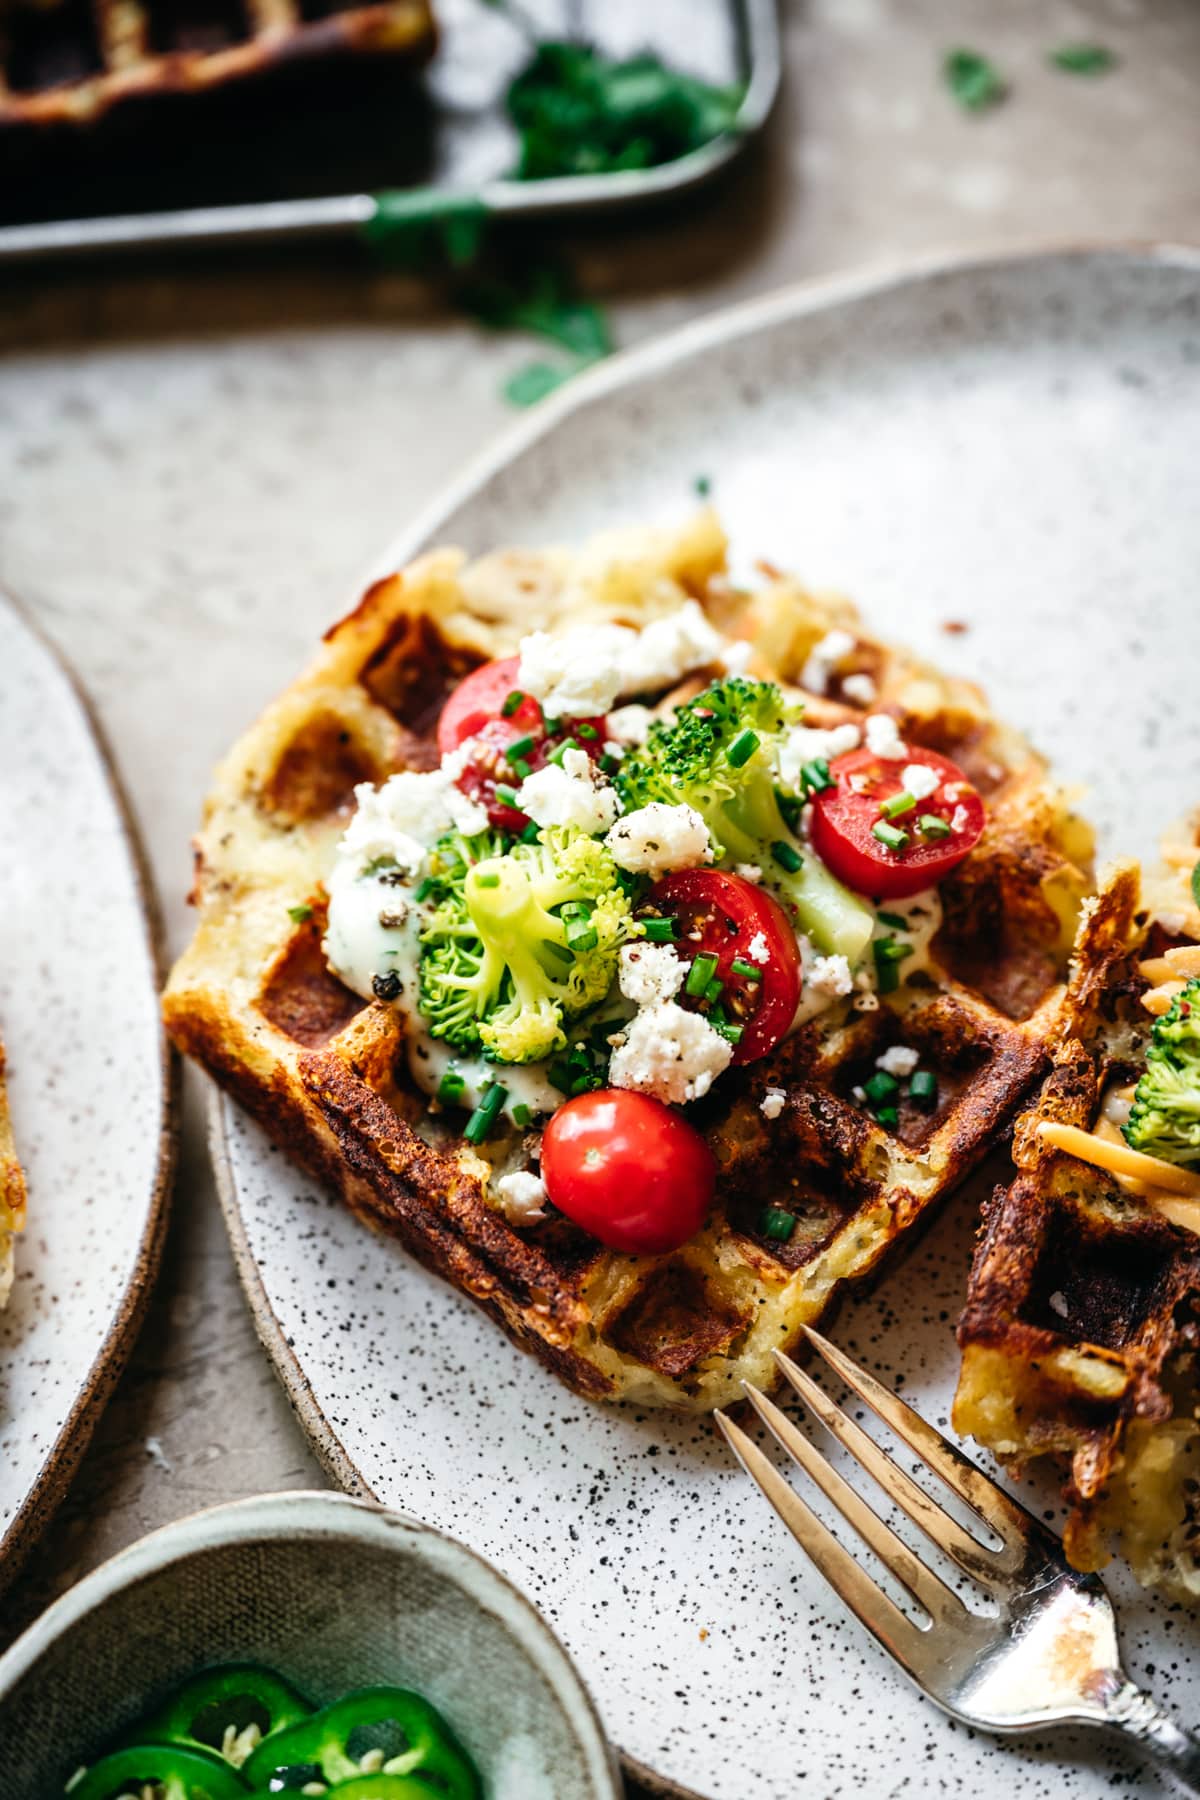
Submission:
[[[745,97],[730,131],[675,162],[516,182],[504,173],[516,153],[504,94],[529,38],[480,0],[437,0],[435,13],[439,49],[421,83],[396,67],[403,58],[347,58],[340,79],[322,67],[320,79],[288,81],[273,99],[230,83],[169,106],[155,95],[151,117],[130,101],[92,124],[59,126],[49,155],[40,137],[16,178],[0,162],[0,263],[385,241],[389,227],[459,202],[497,218],[554,218],[662,200],[725,167],[763,128],[779,86],[775,0],[525,0],[538,36],[612,56],[653,50],[707,81],[743,81]]]

